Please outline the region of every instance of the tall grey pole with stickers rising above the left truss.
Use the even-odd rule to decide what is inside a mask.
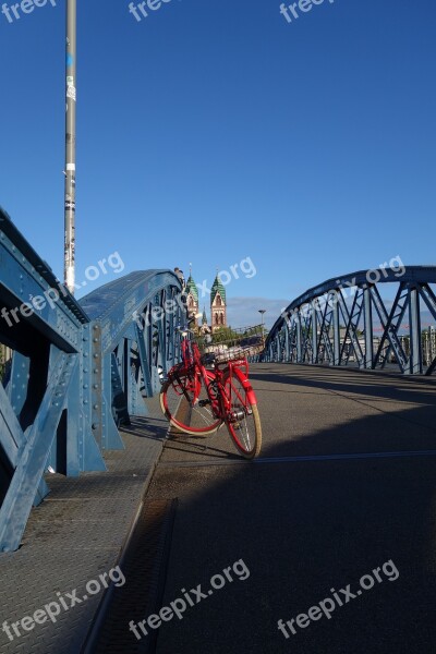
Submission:
[[[65,245],[63,278],[71,293],[74,293],[75,281],[76,26],[76,0],[66,0]]]

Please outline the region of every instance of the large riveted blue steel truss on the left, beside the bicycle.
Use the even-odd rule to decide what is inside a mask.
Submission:
[[[170,270],[146,270],[77,302],[0,209],[0,341],[14,352],[0,383],[0,550],[20,546],[48,467],[102,471],[104,450],[124,447],[118,426],[146,414],[179,360],[181,291]],[[36,296],[48,301],[31,311]]]

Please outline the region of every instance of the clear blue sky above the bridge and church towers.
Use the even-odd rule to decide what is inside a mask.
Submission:
[[[251,257],[227,287],[244,324],[395,255],[435,263],[434,0],[325,0],[292,23],[278,0],[141,22],[77,4],[77,280],[114,251],[210,283]],[[61,276],[64,1],[0,14],[0,204]]]

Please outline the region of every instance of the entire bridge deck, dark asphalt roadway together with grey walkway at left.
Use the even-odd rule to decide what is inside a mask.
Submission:
[[[129,649],[116,650],[114,640],[111,646],[104,623],[93,651],[150,653],[154,633],[158,654],[434,653],[435,383],[275,364],[253,366],[252,377],[263,420],[262,458],[241,461],[225,431],[205,439],[173,436],[146,496],[146,513],[147,507],[178,500],[172,532],[167,530],[168,556],[161,548],[159,558],[164,568],[168,561],[166,578],[158,576],[164,605],[198,584],[206,597],[185,603],[182,620],[174,617],[156,632],[147,627],[149,635],[141,641],[129,632],[129,621],[155,611],[134,602],[119,625]],[[138,432],[124,435],[128,451],[110,453],[109,474],[84,475],[85,486],[56,481],[51,499],[33,511],[25,534],[32,547],[25,541],[20,552],[0,557],[3,619],[32,615],[56,601],[57,591],[78,589],[82,596],[86,581],[116,564],[164,433],[158,419],[147,439]],[[146,441],[153,447],[148,460]],[[69,516],[62,514],[65,498]],[[81,517],[76,505],[84,507]],[[73,530],[76,519],[82,531]],[[146,534],[138,567],[149,549]],[[290,621],[331,598],[330,589],[346,603],[341,589],[350,584],[356,594],[362,576],[374,577],[389,560],[397,580],[388,580],[395,570],[386,568],[382,582],[336,605],[331,619],[300,618],[305,627],[293,622],[289,639],[278,630],[279,619]],[[233,582],[209,595],[209,580],[229,567]],[[246,570],[250,577],[242,580]],[[116,596],[133,589],[135,577],[126,573]],[[195,594],[190,597],[196,602]],[[0,633],[0,652],[78,654],[100,598],[12,643]]]

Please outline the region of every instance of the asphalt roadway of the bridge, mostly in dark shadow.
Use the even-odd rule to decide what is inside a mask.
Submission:
[[[206,443],[179,437],[149,492],[149,500],[179,498],[165,605],[198,583],[207,592],[239,559],[250,578],[233,573],[183,620],[162,623],[158,654],[434,653],[434,382],[275,364],[252,372],[262,459],[229,458],[225,433]],[[434,451],[324,458],[416,450]],[[390,559],[398,580],[376,581],[331,619],[293,623],[288,640],[278,630],[280,618],[307,614],[330,589],[355,593],[363,574]]]

